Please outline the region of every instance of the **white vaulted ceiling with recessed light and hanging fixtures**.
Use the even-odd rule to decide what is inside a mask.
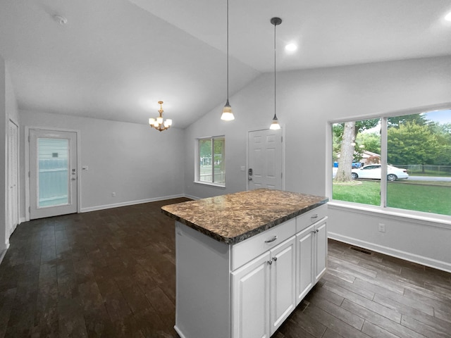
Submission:
[[[0,0],[0,55],[21,109],[147,123],[161,100],[183,128],[226,101],[226,4]],[[451,55],[450,12],[450,0],[229,0],[230,94],[273,71],[274,16],[283,71]]]

